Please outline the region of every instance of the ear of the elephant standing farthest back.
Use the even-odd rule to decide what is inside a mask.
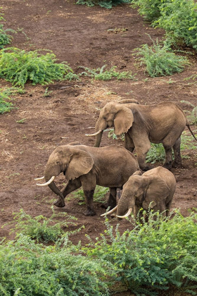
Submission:
[[[115,135],[120,135],[122,132],[127,132],[132,127],[134,116],[132,110],[125,106],[118,106],[117,113],[114,118]]]

